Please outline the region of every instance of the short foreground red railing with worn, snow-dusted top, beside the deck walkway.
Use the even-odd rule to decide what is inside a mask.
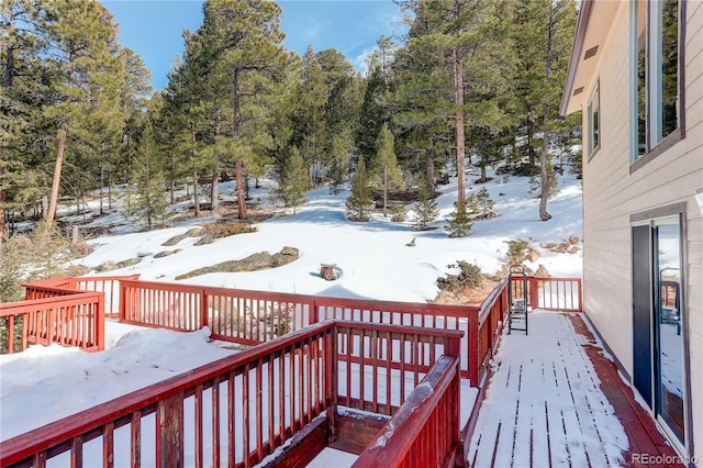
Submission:
[[[353,466],[464,466],[456,406],[459,379],[458,359],[439,358]]]

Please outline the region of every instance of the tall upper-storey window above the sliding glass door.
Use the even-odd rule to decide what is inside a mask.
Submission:
[[[660,153],[665,141],[683,137],[682,7],[683,0],[632,3],[632,161]]]

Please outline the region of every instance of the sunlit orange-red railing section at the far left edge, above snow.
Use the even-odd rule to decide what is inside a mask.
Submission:
[[[0,320],[7,327],[0,342],[3,353],[53,343],[87,352],[104,349],[104,305],[100,292],[0,303]]]

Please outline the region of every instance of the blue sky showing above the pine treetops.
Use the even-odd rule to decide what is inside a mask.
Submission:
[[[155,90],[183,52],[183,30],[202,24],[199,0],[104,0],[120,24],[120,43],[136,52],[152,70]],[[402,34],[399,8],[391,0],[281,0],[281,30],[288,49],[304,54],[336,48],[359,70],[381,35]]]

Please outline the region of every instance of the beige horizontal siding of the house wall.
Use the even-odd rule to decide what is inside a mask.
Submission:
[[[687,3],[685,137],[635,170],[629,147],[629,3],[621,2],[599,52],[601,147],[583,161],[584,312],[633,375],[631,215],[685,202],[687,336],[694,455],[703,463],[703,2]],[[585,101],[582,103],[585,108]],[[584,112],[583,127],[588,115]],[[701,194],[700,197],[703,197]]]

